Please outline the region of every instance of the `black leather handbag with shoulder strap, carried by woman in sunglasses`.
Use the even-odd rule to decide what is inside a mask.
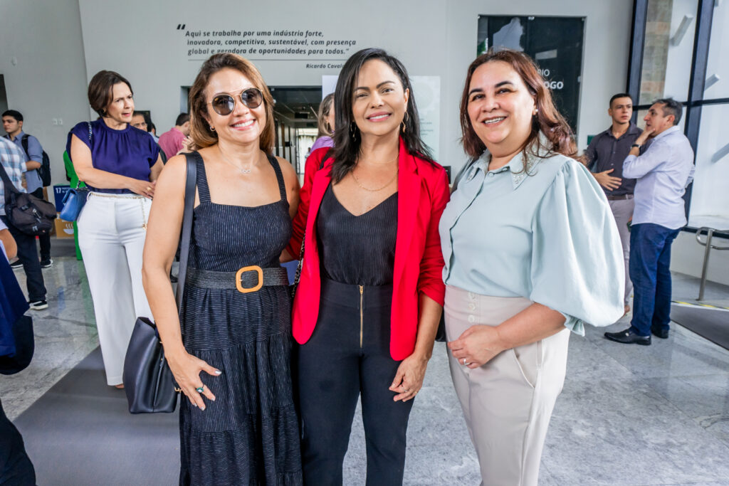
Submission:
[[[187,275],[187,257],[190,254],[192,233],[192,208],[195,205],[197,166],[195,157],[200,154],[185,154],[187,157],[187,181],[184,189],[184,213],[182,216],[182,241],[180,242],[180,267],[176,302],[179,310],[184,294]],[[165,349],[155,324],[146,317],[139,317],[134,323],[132,337],[124,358],[124,391],[127,395],[130,413],[174,412],[178,392],[170,367],[165,359]]]

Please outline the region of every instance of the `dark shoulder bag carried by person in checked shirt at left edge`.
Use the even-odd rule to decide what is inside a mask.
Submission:
[[[0,178],[5,185],[5,216],[18,231],[26,235],[49,235],[55,219],[55,205],[17,190],[0,165]]]

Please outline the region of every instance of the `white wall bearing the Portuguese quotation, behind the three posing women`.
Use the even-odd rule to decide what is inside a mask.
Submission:
[[[625,90],[632,1],[372,0],[356,7],[338,0],[273,0],[242,8],[237,0],[221,0],[215,9],[200,9],[194,0],[134,0],[124,4],[127,15],[113,15],[117,0],[79,0],[79,4],[84,38],[93,39],[85,46],[87,75],[107,68],[128,77],[137,107],[152,110],[158,133],[174,122],[179,87],[192,83],[202,63],[188,60],[184,33],[176,29],[179,23],[185,23],[187,31],[321,30],[330,39],[356,40],[351,52],[373,46],[389,50],[405,63],[411,76],[441,77],[440,162],[453,165],[455,171],[465,160],[458,142],[458,105],[465,70],[475,58],[478,15],[587,17],[577,128],[584,149],[588,134],[599,133],[609,124],[609,97]],[[169,15],[171,11],[175,15]],[[230,15],[215,13],[220,11]],[[106,34],[130,28],[130,17],[135,31],[153,33],[152,42],[140,35],[119,42],[118,36]],[[322,74],[338,73],[338,68],[305,68],[305,60],[254,62],[269,85],[320,85]]]

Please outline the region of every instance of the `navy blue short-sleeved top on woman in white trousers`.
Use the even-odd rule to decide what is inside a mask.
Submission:
[[[88,122],[80,122],[69,132],[66,142],[66,152],[71,156],[71,135],[91,149],[91,162],[93,167],[100,171],[119,174],[120,176],[149,181],[152,165],[157,162],[160,147],[149,133],[132,125],[124,130],[114,130],[104,123],[103,119],[91,122],[91,140],[89,141]],[[89,186],[90,187],[90,186]],[[109,192],[112,194],[130,194],[129,189],[97,189],[96,192]]]

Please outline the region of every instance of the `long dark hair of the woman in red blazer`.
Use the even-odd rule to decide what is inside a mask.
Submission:
[[[354,87],[359,77],[359,70],[368,60],[379,59],[386,63],[402,83],[402,89],[410,92],[410,99],[405,110],[405,119],[401,126],[405,126],[405,133],[400,133],[402,141],[405,142],[405,148],[411,155],[417,155],[419,158],[433,162],[430,150],[420,138],[420,118],[418,117],[418,107],[415,103],[413,95],[413,86],[410,85],[410,77],[405,66],[381,49],[369,48],[355,52],[344,63],[342,71],[340,71],[337,81],[337,88],[334,95],[334,148],[332,149],[332,157],[334,164],[332,165],[332,181],[339,182],[351,171],[357,163],[359,157],[359,144],[362,142],[362,135],[359,128],[356,127],[354,118],[352,117],[352,101],[354,100]]]

